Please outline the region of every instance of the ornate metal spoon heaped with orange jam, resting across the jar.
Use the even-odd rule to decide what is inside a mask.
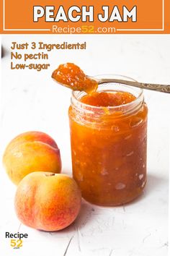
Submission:
[[[97,79],[94,77],[89,77],[73,63],[59,65],[58,69],[54,70],[52,78],[56,82],[70,88],[71,90],[80,90],[88,94],[94,93],[97,90],[98,85],[107,82],[116,82],[137,88],[156,90],[162,93],[170,93],[170,85],[150,84],[146,82],[134,82],[112,78]]]

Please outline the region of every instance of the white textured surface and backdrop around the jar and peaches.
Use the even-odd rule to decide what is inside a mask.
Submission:
[[[46,61],[51,64],[48,71],[10,70],[11,42],[40,40],[45,43],[86,41],[87,48],[85,51],[50,52]],[[170,84],[170,35],[4,35],[2,44],[6,55],[1,68],[1,155],[6,143],[19,133],[47,132],[58,143],[63,173],[69,175],[71,92],[55,85],[50,78],[58,64],[71,61],[86,74],[124,74],[143,82]],[[67,229],[53,233],[37,231],[20,226],[14,213],[16,187],[1,166],[1,256],[168,255],[170,95],[145,91],[145,98],[149,110],[148,183],[143,196],[115,208],[102,208],[83,201],[79,217]],[[4,238],[5,232],[18,230],[27,233],[28,239],[23,240],[21,249],[12,249],[9,239]]]

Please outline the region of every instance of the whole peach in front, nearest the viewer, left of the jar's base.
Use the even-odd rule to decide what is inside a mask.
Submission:
[[[69,226],[81,208],[81,192],[65,174],[35,171],[22,179],[14,200],[19,221],[43,231]]]

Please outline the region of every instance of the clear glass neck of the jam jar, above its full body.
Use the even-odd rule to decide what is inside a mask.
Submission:
[[[108,76],[107,76],[108,77]],[[121,77],[126,78],[127,77]],[[129,79],[132,80],[132,79]],[[134,80],[133,80],[134,81]],[[122,85],[117,83],[105,83],[99,85],[97,92],[104,92],[104,93],[115,93],[115,92],[126,92],[131,93],[135,96],[135,100],[131,101],[130,103],[122,104],[120,106],[91,106],[86,103],[81,102],[81,98],[86,95],[84,92],[73,91],[71,96],[71,106],[76,114],[86,114],[86,116],[94,116],[95,119],[100,119],[102,116],[107,114],[107,116],[115,116],[118,118],[119,116],[128,116],[132,115],[133,113],[137,112],[144,102],[143,97],[143,90],[140,88],[133,88],[128,85]]]

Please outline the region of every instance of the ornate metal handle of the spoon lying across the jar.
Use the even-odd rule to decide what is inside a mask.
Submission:
[[[119,80],[119,79],[100,79],[97,81],[99,84],[103,84],[106,82],[117,82],[124,85],[130,85],[138,88],[143,88],[147,90],[156,90],[162,93],[170,93],[170,85],[158,85],[158,84],[148,84],[146,82],[133,82],[128,80]]]

